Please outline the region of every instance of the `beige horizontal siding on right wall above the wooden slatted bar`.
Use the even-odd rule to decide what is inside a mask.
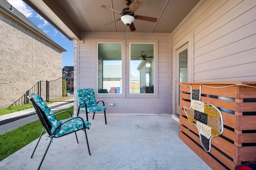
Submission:
[[[173,46],[191,33],[194,82],[256,81],[255,0],[201,0],[172,33]]]

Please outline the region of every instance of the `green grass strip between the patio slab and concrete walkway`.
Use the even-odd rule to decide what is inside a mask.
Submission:
[[[74,107],[70,107],[64,110],[70,111],[72,115],[74,115]],[[70,114],[62,113],[56,117],[59,120],[62,120],[70,117]],[[0,161],[39,138],[40,133],[42,132],[42,128],[43,126],[38,118],[37,121],[28,123],[0,135]]]

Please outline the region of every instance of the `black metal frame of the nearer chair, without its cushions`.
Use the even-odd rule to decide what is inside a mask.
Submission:
[[[81,120],[82,120],[82,122],[83,122],[83,127],[84,127],[84,128],[83,128],[83,129],[79,129],[79,130],[83,130],[83,131],[84,131],[85,138],[86,138],[86,143],[87,143],[87,148],[88,148],[88,153],[89,153],[89,155],[91,155],[91,153],[90,153],[90,148],[89,148],[89,144],[88,144],[88,138],[87,138],[87,134],[86,134],[86,129],[87,129],[88,127],[87,127],[87,128],[85,127],[85,125],[84,125],[84,119],[82,119],[81,117],[72,117],[72,113],[70,113],[69,111],[62,111],[62,112],[56,113],[55,115],[58,115],[58,114],[60,114],[60,113],[68,112],[68,113],[70,113],[70,115],[71,115],[72,118],[70,118],[70,119],[68,119],[68,120],[66,120],[66,121],[64,121],[64,122],[62,122],[61,125],[59,125],[59,126],[56,128],[56,130],[54,131],[54,133],[52,133],[52,132],[50,131],[50,124],[48,123],[48,120],[46,119],[45,114],[44,114],[44,112],[42,111],[42,109],[36,104],[36,102],[34,101],[34,99],[33,99],[31,96],[28,96],[28,98],[29,98],[30,101],[32,102],[32,104],[33,104],[33,106],[34,106],[34,108],[35,108],[35,110],[36,110],[36,113],[37,113],[37,115],[38,115],[38,117],[39,117],[39,119],[40,119],[40,121],[41,121],[41,123],[42,123],[42,125],[43,125],[43,127],[44,127],[44,128],[42,129],[42,132],[41,132],[41,135],[40,135],[40,137],[39,137],[39,139],[38,139],[38,142],[36,143],[36,147],[38,146],[38,143],[39,143],[39,141],[40,141],[40,139],[41,139],[41,137],[42,137],[44,131],[46,131],[46,133],[47,133],[48,136],[50,137],[50,141],[49,141],[48,146],[47,146],[47,148],[46,148],[46,150],[45,150],[45,152],[44,152],[44,156],[42,157],[42,160],[41,160],[41,162],[40,162],[40,164],[39,164],[39,166],[38,166],[38,170],[40,169],[40,167],[41,167],[41,165],[42,165],[42,162],[44,161],[44,157],[45,157],[45,155],[46,155],[46,153],[47,153],[47,151],[48,151],[48,149],[49,149],[49,147],[50,147],[50,144],[52,143],[52,139],[53,139],[53,138],[58,138],[58,137],[54,137],[55,133],[58,132],[58,129],[60,129],[60,127],[61,127],[65,122],[70,121],[70,120],[72,120],[72,119],[81,119]],[[79,131],[79,130],[77,130],[77,131]],[[73,131],[73,132],[74,132],[75,135],[76,135],[76,131]],[[71,133],[73,133],[73,132],[71,132]],[[65,134],[65,135],[68,135],[68,134],[70,134],[70,133],[67,133],[67,134]],[[62,136],[65,136],[65,135],[62,135]],[[60,137],[62,137],[62,136],[60,136]],[[76,142],[78,143],[77,135],[76,135]],[[34,151],[33,151],[32,155],[31,155],[31,158],[32,158],[32,156],[34,155],[34,152],[35,152],[35,150],[36,150],[36,147],[34,148]]]

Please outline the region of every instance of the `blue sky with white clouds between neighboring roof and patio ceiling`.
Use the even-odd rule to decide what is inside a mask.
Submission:
[[[66,49],[62,53],[62,68],[64,66],[74,66],[74,41],[67,39],[60,31],[54,28],[44,18],[38,15],[32,8],[30,8],[22,0],[7,0],[14,8],[21,12],[26,18],[32,21],[38,28],[40,28],[46,35],[48,35],[55,43]]]

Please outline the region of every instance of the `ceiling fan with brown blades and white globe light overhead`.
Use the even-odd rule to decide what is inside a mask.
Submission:
[[[134,19],[136,20],[144,20],[144,21],[150,21],[150,22],[156,22],[158,19],[153,17],[147,17],[147,16],[134,16],[134,12],[143,4],[144,0],[135,0],[132,6],[129,8],[129,5],[131,4],[130,0],[126,0],[125,4],[127,5],[127,8],[122,9],[122,12],[115,10],[113,8],[110,8],[105,5],[100,5],[102,8],[106,8],[108,10],[111,10],[113,12],[117,12],[118,14],[121,14],[121,18],[118,18],[116,20],[110,21],[108,23],[105,23],[104,25],[110,25],[111,23],[115,23],[117,21],[122,20],[125,25],[129,25],[131,31],[135,31],[136,28],[134,26]]]

